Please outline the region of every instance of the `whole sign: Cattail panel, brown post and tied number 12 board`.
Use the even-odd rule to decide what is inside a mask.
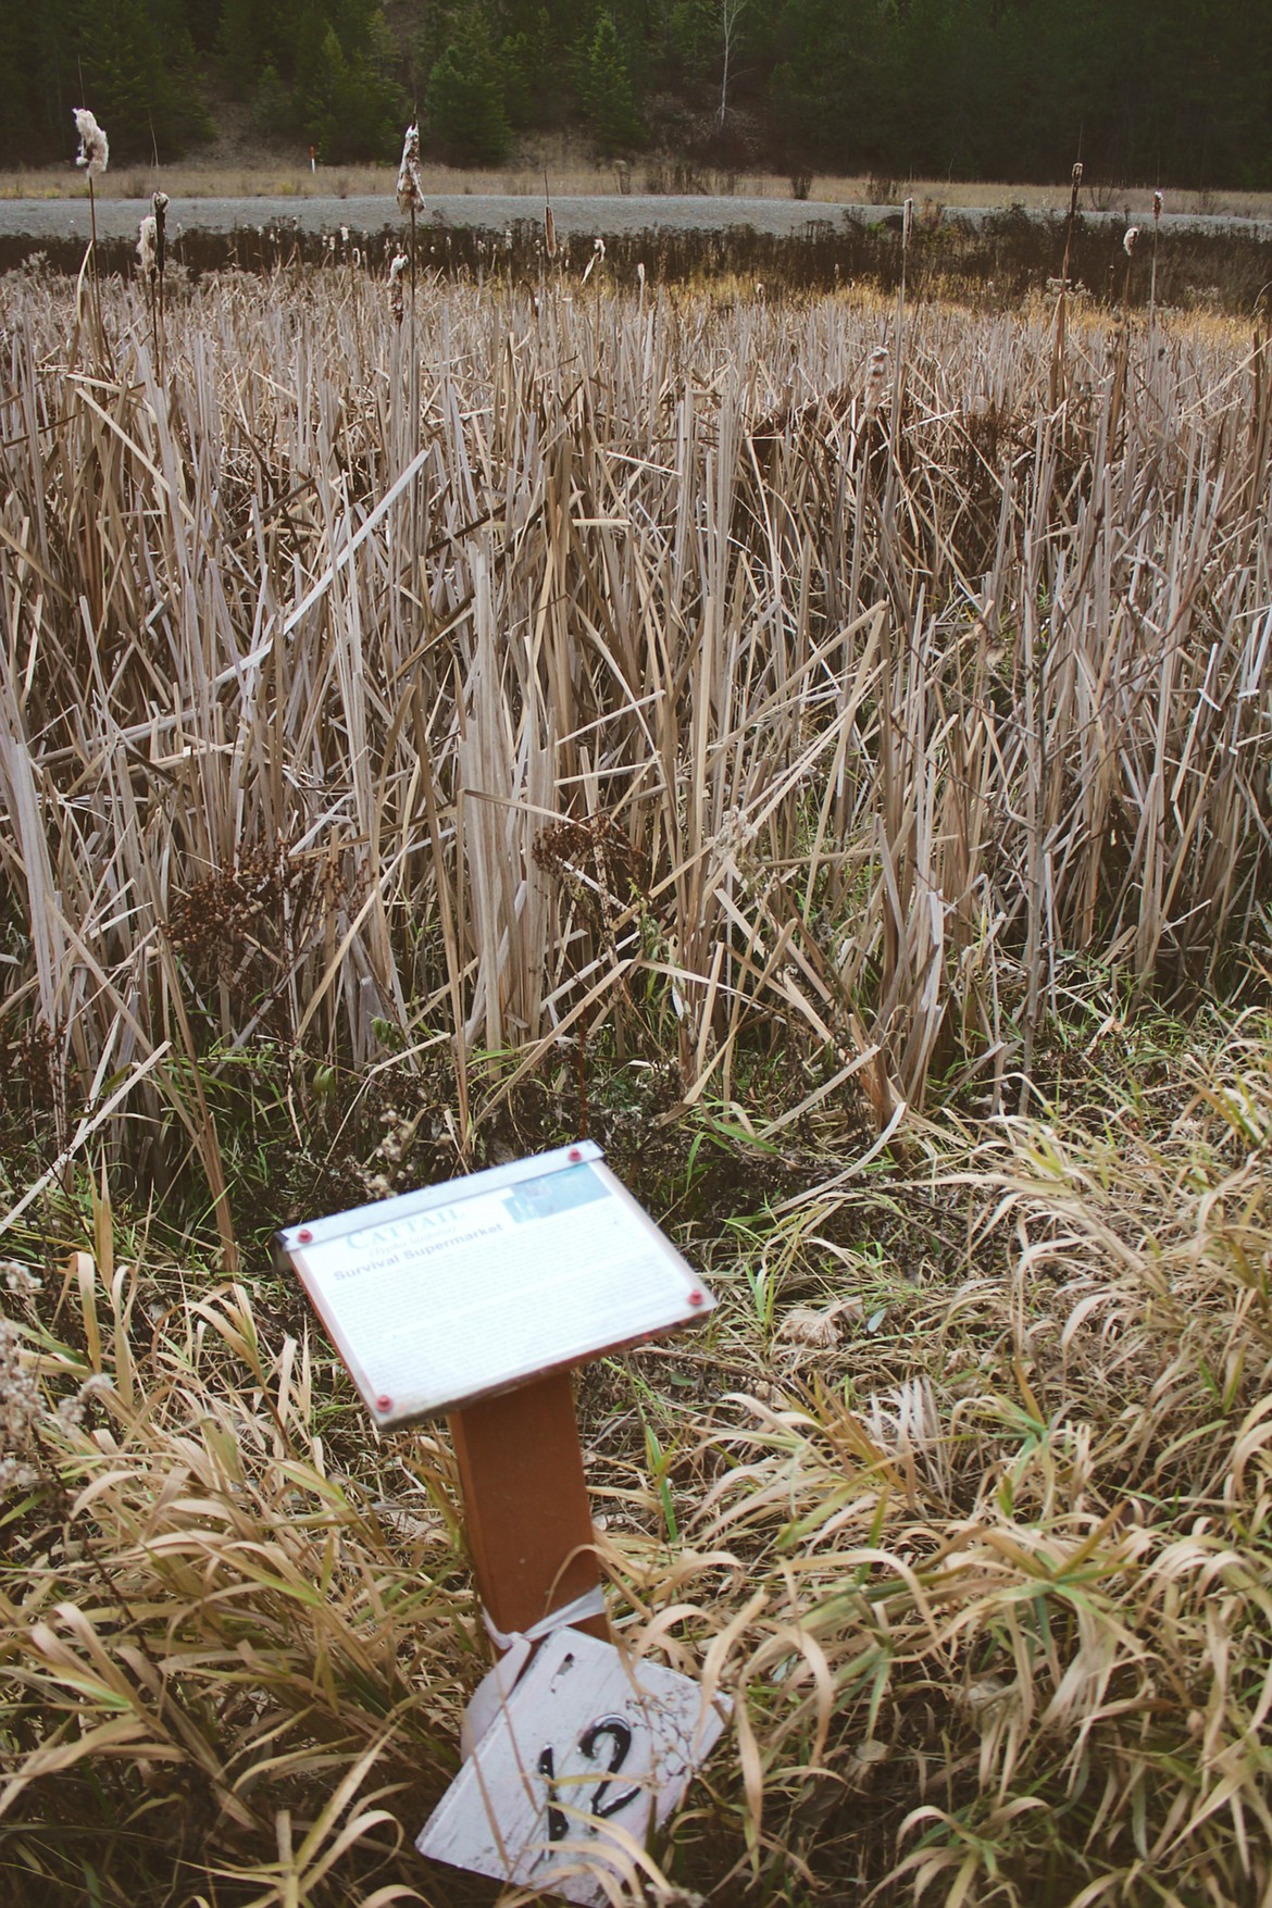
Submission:
[[[503,1654],[418,1847],[603,1904],[728,1702],[606,1641],[568,1368],[715,1301],[591,1141],[311,1219],[277,1242],[376,1423],[450,1416],[477,1593]]]

